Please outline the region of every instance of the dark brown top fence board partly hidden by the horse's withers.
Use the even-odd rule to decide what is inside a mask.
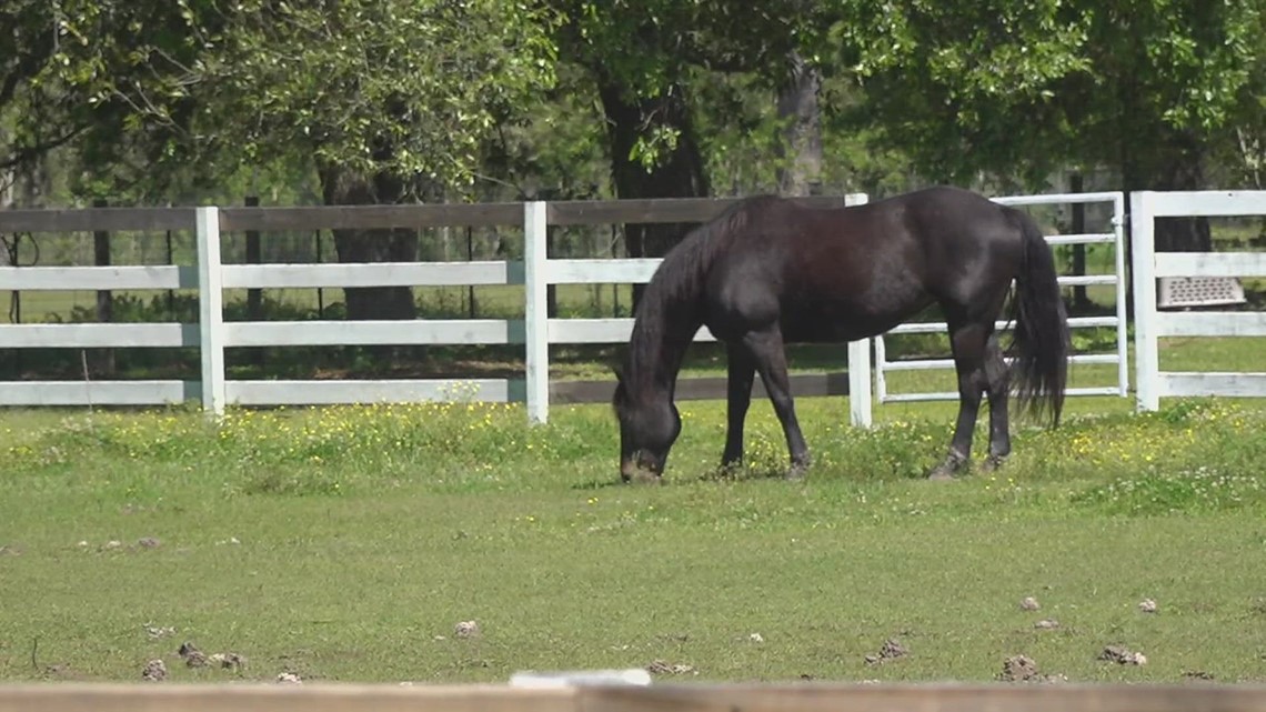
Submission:
[[[552,226],[592,226],[619,223],[705,223],[744,198],[648,198],[632,200],[561,200],[548,204]],[[849,195],[798,198],[800,203],[823,208],[843,208],[857,200]]]

